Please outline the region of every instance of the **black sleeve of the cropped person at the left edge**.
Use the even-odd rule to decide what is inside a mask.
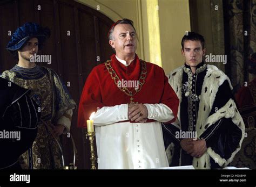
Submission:
[[[40,116],[40,112],[37,111],[37,104],[27,94],[8,107],[0,119],[0,130],[16,133],[16,138],[0,139],[0,168],[10,166],[29,149],[37,136]]]

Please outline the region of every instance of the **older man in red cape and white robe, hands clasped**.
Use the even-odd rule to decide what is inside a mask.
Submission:
[[[114,23],[108,33],[116,54],[92,69],[84,85],[78,127],[92,112],[98,169],[169,167],[161,122],[176,120],[179,100],[156,64],[136,54],[132,20]]]

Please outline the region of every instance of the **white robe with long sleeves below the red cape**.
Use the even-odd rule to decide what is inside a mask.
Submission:
[[[95,124],[98,169],[147,169],[169,167],[160,122],[174,118],[165,104],[144,104],[151,123],[122,122],[128,105],[102,107],[92,118]]]

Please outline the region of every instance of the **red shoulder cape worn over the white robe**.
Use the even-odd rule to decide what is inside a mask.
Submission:
[[[111,56],[111,66],[116,71],[120,80],[138,80],[140,76],[140,61],[136,55],[129,66],[124,66],[116,59],[116,55]],[[133,102],[157,104],[163,103],[170,107],[174,114],[174,119],[168,121],[171,123],[176,120],[179,99],[176,93],[168,83],[164,70],[156,64],[146,62],[147,74],[142,89],[133,96]],[[130,103],[130,96],[114,84],[105,64],[99,64],[92,69],[84,85],[83,93],[80,98],[78,109],[78,127],[86,127],[86,120],[89,119],[92,112],[103,106],[115,106]],[[154,120],[147,120],[152,122]],[[131,123],[134,121],[130,121]]]

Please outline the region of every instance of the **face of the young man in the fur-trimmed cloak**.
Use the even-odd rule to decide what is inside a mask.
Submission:
[[[186,40],[184,48],[181,49],[181,54],[185,56],[185,63],[190,67],[196,67],[203,61],[205,48],[202,49],[200,41]]]

